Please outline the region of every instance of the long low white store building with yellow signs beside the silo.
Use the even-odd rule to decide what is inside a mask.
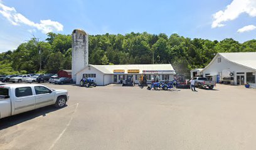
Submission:
[[[111,83],[125,83],[127,75],[132,75],[134,83],[139,83],[141,74],[146,74],[151,81],[156,75],[160,81],[172,81],[175,71],[171,64],[124,64],[124,65],[92,65],[85,66],[78,71],[76,84],[80,84],[83,77],[93,78],[97,85],[104,86]]]

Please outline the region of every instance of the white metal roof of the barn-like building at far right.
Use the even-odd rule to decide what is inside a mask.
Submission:
[[[213,61],[219,55],[227,59],[227,61],[256,70],[256,52],[218,53],[216,54],[215,58],[213,58],[211,63],[213,63]],[[210,64],[208,64],[205,68],[210,66]]]

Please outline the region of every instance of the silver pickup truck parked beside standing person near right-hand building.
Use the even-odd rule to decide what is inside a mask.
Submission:
[[[214,86],[216,86],[215,81],[208,81],[207,78],[194,77],[194,80],[195,80],[195,86],[197,88],[206,88],[206,87],[208,87],[209,89],[213,89]]]

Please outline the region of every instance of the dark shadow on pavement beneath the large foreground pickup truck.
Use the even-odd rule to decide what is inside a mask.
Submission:
[[[65,107],[67,107],[67,105]],[[59,109],[55,108],[54,106],[46,106],[44,108],[38,108],[32,111],[0,119],[0,130],[9,128],[11,126],[15,126],[16,124],[20,124],[25,121],[29,121],[39,116],[46,116],[46,114],[51,113],[53,111],[58,111]]]

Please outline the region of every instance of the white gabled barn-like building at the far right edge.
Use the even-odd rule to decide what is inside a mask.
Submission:
[[[256,86],[256,52],[218,53],[215,58],[201,70],[203,77],[219,81],[223,77],[233,77],[233,84],[249,83]]]

